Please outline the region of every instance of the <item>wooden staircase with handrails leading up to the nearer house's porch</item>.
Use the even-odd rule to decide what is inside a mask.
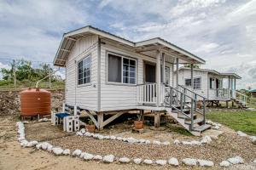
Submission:
[[[187,92],[189,91],[189,94]],[[185,129],[196,136],[210,128],[206,124],[206,100],[203,96],[195,94],[188,88],[165,88],[165,107],[169,116],[172,116]],[[192,94],[192,95],[191,95]],[[202,101],[202,109],[196,107],[198,101]]]

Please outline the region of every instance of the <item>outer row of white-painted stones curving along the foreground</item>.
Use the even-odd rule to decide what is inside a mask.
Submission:
[[[87,152],[83,152],[82,150],[74,150],[73,153],[69,149],[63,150],[60,147],[55,147],[48,142],[41,142],[38,141],[27,141],[25,138],[25,126],[23,122],[16,122],[16,127],[18,127],[18,141],[22,147],[36,147],[38,150],[47,150],[51,153],[54,153],[55,156],[73,156],[73,157],[80,157],[84,161],[102,161],[104,163],[135,163],[135,164],[146,164],[146,165],[159,165],[159,166],[179,166],[179,161],[175,157],[171,157],[169,159],[164,160],[150,160],[150,159],[142,159],[142,158],[129,158],[129,157],[115,157],[113,155],[108,156],[100,156],[100,155],[93,155]],[[219,166],[221,167],[230,167],[230,165],[236,165],[244,163],[243,159],[240,156],[231,157],[226,161],[221,161]],[[256,164],[256,159],[253,161],[253,164]],[[213,167],[213,161],[201,160],[201,159],[194,159],[194,158],[184,158],[182,160],[182,165],[185,166],[200,166],[200,167]]]

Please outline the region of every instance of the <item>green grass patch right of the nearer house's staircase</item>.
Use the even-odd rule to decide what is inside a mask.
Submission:
[[[256,135],[256,111],[212,111],[207,114],[207,119],[222,123],[236,131]]]

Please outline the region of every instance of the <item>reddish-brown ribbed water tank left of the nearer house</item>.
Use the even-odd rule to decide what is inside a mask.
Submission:
[[[28,88],[20,92],[20,116],[44,116],[51,112],[50,92]]]

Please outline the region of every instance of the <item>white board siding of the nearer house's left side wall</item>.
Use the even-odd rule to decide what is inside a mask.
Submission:
[[[80,59],[90,55],[90,84],[77,84],[77,65]],[[77,61],[75,63],[75,61]],[[80,38],[75,43],[73,50],[68,56],[66,62],[66,103],[67,105],[78,105],[88,110],[96,111],[97,106],[97,37],[89,36]]]

